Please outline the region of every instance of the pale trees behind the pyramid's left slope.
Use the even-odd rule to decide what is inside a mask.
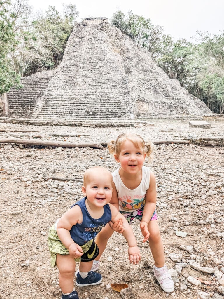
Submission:
[[[64,7],[65,17],[61,17],[53,6],[49,6],[46,16],[33,16],[26,0],[16,0],[12,5],[17,16],[17,46],[10,56],[16,72],[27,76],[52,69],[62,60],[67,39],[73,29],[73,21],[78,15],[75,5]]]

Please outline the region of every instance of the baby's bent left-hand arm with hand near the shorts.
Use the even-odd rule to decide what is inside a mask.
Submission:
[[[57,224],[57,234],[59,239],[68,249],[69,254],[74,258],[81,257],[82,248],[73,241],[70,235],[70,229],[77,222],[82,222],[82,211],[79,206],[75,205],[73,208],[65,212]]]

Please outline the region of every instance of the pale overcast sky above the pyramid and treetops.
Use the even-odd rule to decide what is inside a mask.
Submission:
[[[29,0],[34,10],[45,12],[48,5],[54,5],[60,12],[62,3],[76,4],[80,22],[85,17],[108,17],[118,9],[150,18],[154,25],[164,27],[166,34],[174,40],[186,38],[189,41],[197,30],[216,34],[224,30],[223,0]]]

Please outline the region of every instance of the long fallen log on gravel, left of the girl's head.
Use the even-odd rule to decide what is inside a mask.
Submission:
[[[58,142],[58,141],[42,141],[36,139],[20,139],[20,138],[0,138],[0,143],[15,143],[38,145],[44,147],[93,147],[103,149],[100,143],[73,143],[73,142]]]

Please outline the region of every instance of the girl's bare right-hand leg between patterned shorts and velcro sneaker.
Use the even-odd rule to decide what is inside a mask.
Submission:
[[[164,266],[165,258],[164,258],[164,248],[162,238],[159,233],[159,226],[157,220],[151,220],[148,224],[149,235],[149,246],[152,252],[152,256],[155,261],[155,265],[158,268]]]

